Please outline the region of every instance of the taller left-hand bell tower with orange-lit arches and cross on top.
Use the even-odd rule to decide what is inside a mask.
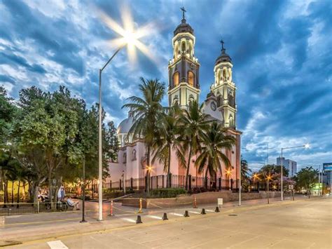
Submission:
[[[169,106],[188,108],[193,100],[199,101],[200,83],[198,58],[195,58],[195,36],[191,25],[186,23],[184,7],[181,8],[181,24],[174,30],[172,39],[173,59],[168,64]]]

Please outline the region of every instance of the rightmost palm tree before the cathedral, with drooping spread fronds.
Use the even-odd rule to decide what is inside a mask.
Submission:
[[[200,145],[200,156],[195,161],[198,172],[205,170],[205,188],[207,188],[207,173],[210,177],[216,178],[216,172],[221,168],[221,161],[225,163],[226,168],[230,168],[228,157],[221,152],[222,149],[232,149],[235,144],[235,137],[225,135],[227,129],[223,128],[221,123],[214,121],[209,129],[202,134],[202,142]]]

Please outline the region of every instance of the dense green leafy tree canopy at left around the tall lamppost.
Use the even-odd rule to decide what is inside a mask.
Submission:
[[[35,198],[38,187],[45,182],[50,184],[51,179],[60,184],[61,180],[81,178],[83,158],[86,178],[97,177],[98,106],[88,109],[83,100],[71,96],[64,86],[54,93],[33,86],[20,90],[19,96],[14,102],[0,87],[1,174],[11,177],[8,167],[13,164],[10,160],[15,159],[11,171],[16,171],[12,175],[29,182],[29,194]],[[103,120],[104,117],[102,110]],[[102,142],[106,177],[107,163],[116,159],[118,151],[113,122],[108,126],[103,123]]]

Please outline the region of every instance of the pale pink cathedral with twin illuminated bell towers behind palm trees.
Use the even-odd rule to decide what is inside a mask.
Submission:
[[[183,11],[181,23],[174,30],[172,39],[173,58],[168,64],[168,100],[169,106],[179,105],[186,109],[193,100],[200,102],[200,62],[195,57],[195,35],[194,30],[186,22],[185,10]],[[210,92],[203,102],[203,112],[209,119],[216,120],[228,128],[228,134],[236,138],[232,149],[225,149],[232,165],[232,170],[223,166],[222,174],[217,173],[219,188],[238,188],[237,180],[240,177],[240,148],[241,132],[236,129],[235,103],[236,87],[232,79],[233,64],[230,55],[226,53],[224,43],[221,41],[221,54],[216,58],[214,65],[214,83],[210,86]],[[117,130],[120,149],[118,162],[109,163],[111,188],[131,187],[132,189],[144,189],[146,184],[146,148],[144,141],[133,139],[129,131],[134,123],[134,115],[128,113],[127,119],[123,120]],[[195,168],[195,159],[191,159],[190,175],[191,186],[202,187],[203,175]],[[223,163],[222,163],[223,164]],[[151,188],[162,188],[166,186],[167,174],[164,166],[158,161],[151,165]],[[181,167],[177,161],[175,152],[171,156],[172,187],[184,187],[186,169]],[[209,180],[210,181],[210,180]],[[214,180],[210,182],[213,183]],[[222,183],[221,183],[222,182]],[[233,183],[234,182],[234,183]],[[216,187],[218,183],[215,182]]]

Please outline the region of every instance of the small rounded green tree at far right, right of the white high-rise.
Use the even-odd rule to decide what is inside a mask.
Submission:
[[[310,198],[310,189],[312,188],[312,185],[316,182],[318,182],[318,170],[314,170],[312,166],[302,168],[295,177],[296,180],[296,187],[298,189],[303,188],[305,191],[307,191],[307,194]]]

